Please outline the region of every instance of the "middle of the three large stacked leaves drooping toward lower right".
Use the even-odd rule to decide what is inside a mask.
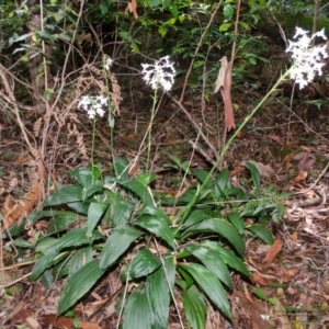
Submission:
[[[203,262],[227,287],[231,288],[229,271],[216,250],[196,243],[185,246],[185,249]]]

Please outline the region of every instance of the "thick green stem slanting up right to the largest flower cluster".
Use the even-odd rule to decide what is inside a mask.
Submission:
[[[277,87],[286,79],[286,77],[290,75],[291,69],[288,69],[284,75],[282,75],[276,83],[272,87],[272,89],[264,95],[264,98],[258,103],[258,105],[246,116],[245,121],[242,124],[237,128],[237,131],[231,135],[231,137],[228,139],[228,141],[225,144],[223,147],[218,158],[216,159],[216,162],[214,163],[213,168],[211,169],[209,173],[205,178],[204,182],[202,185],[196,190],[195,195],[193,197],[193,201],[189,203],[186,207],[184,207],[180,213],[178,213],[173,223],[179,223],[177,231],[180,230],[181,226],[183,225],[185,218],[188,217],[190,209],[192,206],[195,204],[197,201],[201,191],[206,186],[208,183],[209,179],[213,177],[214,171],[218,168],[218,164],[220,163],[222,159],[224,158],[226,151],[228,150],[229,146],[231,143],[235,140],[237,135],[242,131],[242,128],[246,126],[246,124],[250,121],[250,118],[256,114],[256,112],[263,105],[263,103],[268,100],[268,98],[277,89]]]

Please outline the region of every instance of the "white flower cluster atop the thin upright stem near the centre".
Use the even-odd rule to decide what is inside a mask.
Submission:
[[[164,56],[156,61],[156,64],[141,64],[144,75],[143,80],[146,84],[150,84],[154,90],[162,87],[166,91],[170,91],[175,76],[173,63],[170,61],[169,56]]]

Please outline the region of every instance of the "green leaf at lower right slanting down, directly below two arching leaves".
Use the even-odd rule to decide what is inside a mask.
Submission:
[[[208,269],[200,264],[180,264],[188,271],[197,285],[202,287],[208,298],[225,314],[229,319],[231,318],[230,307],[227,299],[226,291],[220,284],[219,280]]]

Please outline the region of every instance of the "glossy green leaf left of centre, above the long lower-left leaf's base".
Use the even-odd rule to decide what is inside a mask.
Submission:
[[[104,245],[100,268],[105,270],[111,266],[141,235],[140,230],[128,225],[115,228]]]

